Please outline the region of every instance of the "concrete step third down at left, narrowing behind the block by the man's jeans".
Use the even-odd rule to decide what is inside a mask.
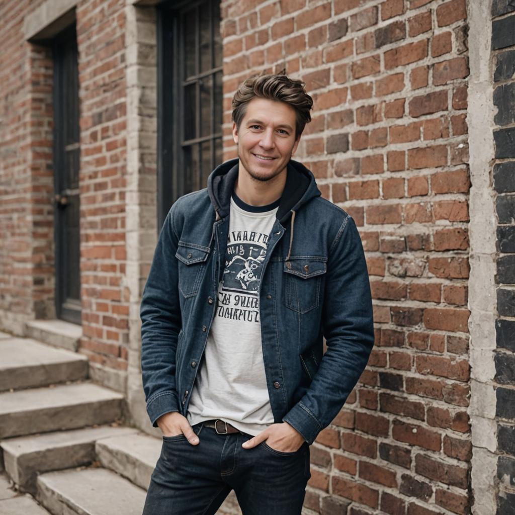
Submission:
[[[124,438],[136,432],[131,427],[87,427],[9,438],[0,441],[0,448],[11,479],[20,490],[35,495],[38,474],[90,465],[97,459],[96,441]]]

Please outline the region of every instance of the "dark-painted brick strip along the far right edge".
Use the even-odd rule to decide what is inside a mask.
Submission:
[[[492,4],[493,103],[496,128],[493,184],[497,211],[495,394],[497,514],[515,506],[515,5]]]

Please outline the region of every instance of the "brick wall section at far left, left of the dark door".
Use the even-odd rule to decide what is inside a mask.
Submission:
[[[0,6],[0,324],[17,334],[55,316],[53,66],[48,48],[20,38],[27,6]]]

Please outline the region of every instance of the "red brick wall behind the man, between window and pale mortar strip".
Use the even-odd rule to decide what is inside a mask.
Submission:
[[[297,159],[356,220],[376,348],[312,446],[306,513],[468,513],[465,0],[222,2],[230,102],[253,72],[314,98]]]

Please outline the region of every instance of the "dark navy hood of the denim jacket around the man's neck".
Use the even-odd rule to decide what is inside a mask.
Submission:
[[[231,159],[217,166],[209,175],[208,192],[217,219],[229,214],[231,194],[238,177],[239,159]],[[287,164],[286,184],[281,195],[277,219],[284,224],[303,204],[321,195],[315,177],[303,164],[290,160]]]

